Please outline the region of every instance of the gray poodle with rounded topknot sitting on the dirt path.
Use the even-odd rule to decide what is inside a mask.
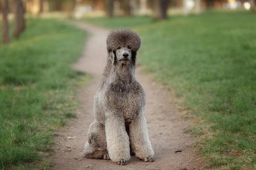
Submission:
[[[84,145],[86,158],[126,165],[131,151],[139,159],[154,161],[144,115],[145,92],[135,79],[139,48],[140,37],[131,30],[111,31],[107,37],[107,65],[94,97],[95,120]]]

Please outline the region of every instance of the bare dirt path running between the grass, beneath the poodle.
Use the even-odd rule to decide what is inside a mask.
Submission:
[[[94,79],[89,86],[79,91],[83,105],[78,108],[78,119],[67,126],[66,130],[61,131],[61,135],[56,138],[57,145],[52,156],[54,162],[52,169],[183,170],[185,167],[187,170],[199,169],[198,163],[195,163],[198,156],[191,147],[193,139],[183,133],[183,129],[189,126],[189,123],[182,119],[184,113],[177,111],[173,105],[172,95],[169,95],[170,93],[165,88],[152,82],[138,68],[136,77],[146,92],[145,114],[155,161],[152,163],[143,162],[132,156],[128,165],[120,166],[111,161],[83,159],[81,157],[81,151],[87,139],[88,127],[94,120],[93,96],[96,94],[105,66],[107,55],[105,42],[109,31],[82,23],[73,24],[92,34],[87,40],[83,56],[75,68],[92,74]],[[77,138],[72,140],[67,139],[67,136],[76,136]],[[175,153],[178,148],[181,148],[182,152]]]

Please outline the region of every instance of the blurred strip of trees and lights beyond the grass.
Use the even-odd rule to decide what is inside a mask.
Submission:
[[[14,18],[14,37],[25,28],[23,15],[43,17],[115,17],[200,14],[212,9],[255,10],[255,0],[1,0],[3,41],[9,42],[7,16]],[[65,14],[66,13],[66,14]]]

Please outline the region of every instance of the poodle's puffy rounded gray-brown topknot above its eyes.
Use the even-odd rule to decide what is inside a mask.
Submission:
[[[108,52],[120,47],[128,47],[132,51],[137,51],[140,48],[140,37],[129,29],[119,28],[111,31],[107,37]]]

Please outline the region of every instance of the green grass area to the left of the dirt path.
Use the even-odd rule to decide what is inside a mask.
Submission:
[[[71,69],[85,33],[54,19],[29,19],[19,39],[0,45],[0,166],[48,169],[55,130],[75,118]]]

